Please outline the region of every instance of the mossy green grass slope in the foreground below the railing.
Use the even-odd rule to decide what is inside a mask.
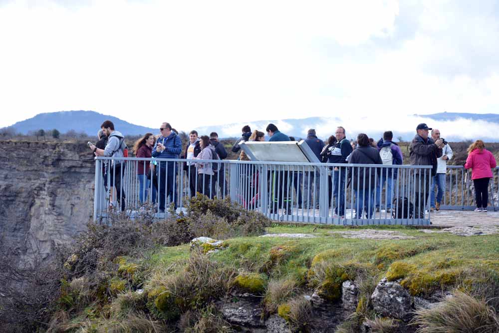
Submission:
[[[361,240],[331,234],[367,228],[399,231],[416,239]],[[483,300],[499,295],[499,235],[460,237],[403,226],[291,224],[274,224],[267,232],[313,233],[316,237],[239,237],[225,240],[228,247],[210,255],[187,244],[156,249],[144,255],[142,262],[121,258],[116,269],[121,279],[125,272],[128,277],[141,273],[141,267],[149,268],[147,273],[141,273],[145,292],[143,297],[137,297],[133,290],[116,290],[105,327],[112,327],[114,322],[110,321],[120,319],[132,327],[143,326],[147,332],[155,330],[158,323],[170,325],[178,321],[185,332],[231,332],[213,302],[236,288],[261,295],[264,318],[277,314],[293,332],[308,332],[311,310],[303,295],[316,291],[336,301],[341,297],[342,282],[354,279],[360,289],[360,302],[351,321],[338,332],[357,332],[364,320],[377,326],[377,332],[396,332],[394,321],[377,318],[369,307],[370,295],[384,276],[399,281],[413,295],[424,296],[440,289],[482,295]],[[121,287],[120,282],[114,281],[117,287]],[[73,289],[80,290],[80,284],[74,282]],[[482,312],[494,307],[499,309],[499,301],[490,301],[486,308],[474,306]],[[421,313],[419,320],[437,320],[424,316]],[[86,327],[99,321],[88,316],[85,320],[89,321]]]

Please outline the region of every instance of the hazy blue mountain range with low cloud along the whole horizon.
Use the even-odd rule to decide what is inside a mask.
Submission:
[[[36,116],[16,122],[12,126],[16,132],[27,134],[38,129],[58,129],[61,133],[69,130],[85,132],[88,135],[95,135],[98,126],[106,119],[113,121],[116,129],[124,135],[140,135],[147,132],[158,133],[158,129],[139,126],[117,117],[104,115],[95,111],[59,111],[50,113],[40,113]],[[325,138],[334,133],[334,128],[343,125],[347,128],[347,137],[354,138],[357,133],[365,132],[372,137],[380,137],[382,129],[386,127],[394,131],[395,138],[409,140],[414,136],[416,124],[428,122],[428,125],[442,126],[445,128],[446,138],[450,140],[473,139],[480,137],[487,141],[499,141],[499,114],[487,113],[455,113],[441,112],[434,114],[414,114],[409,116],[398,115],[387,118],[373,115],[372,117],[340,119],[338,117],[309,117],[303,119],[282,119],[282,120],[259,120],[247,123],[220,124],[214,126],[196,128],[200,135],[217,132],[219,137],[239,137],[241,128],[248,124],[252,129],[265,130],[269,122],[288,135],[302,138],[306,136],[308,128],[315,128],[317,136]],[[175,126],[174,126],[175,127]],[[180,131],[189,132],[190,128],[179,128]]]

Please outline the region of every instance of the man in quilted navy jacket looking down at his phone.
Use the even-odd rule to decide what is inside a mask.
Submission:
[[[179,158],[182,152],[182,140],[172,131],[172,126],[164,122],[160,127],[161,136],[156,140],[152,156],[156,158]],[[159,212],[165,212],[166,196],[174,196],[175,189],[175,173],[174,161],[158,161],[159,167],[156,168],[158,173],[159,187]],[[177,170],[176,170],[177,171]],[[165,193],[165,188],[166,192]],[[177,199],[177,198],[175,198]],[[177,200],[174,200],[175,208],[177,208]]]

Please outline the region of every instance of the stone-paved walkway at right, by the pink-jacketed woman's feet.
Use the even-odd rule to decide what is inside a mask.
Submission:
[[[431,214],[434,226],[499,226],[499,212],[438,211]]]

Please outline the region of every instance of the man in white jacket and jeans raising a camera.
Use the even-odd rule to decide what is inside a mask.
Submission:
[[[433,141],[437,141],[440,139],[440,130],[437,128],[432,129],[432,139]],[[437,158],[437,174],[432,177],[432,185],[430,187],[431,195],[430,195],[430,210],[440,210],[440,203],[442,202],[442,197],[445,193],[445,175],[447,173],[447,161],[449,161],[452,156],[451,146],[442,139],[442,143],[445,145],[442,148],[442,157]],[[437,200],[435,202],[435,184],[437,184]]]

